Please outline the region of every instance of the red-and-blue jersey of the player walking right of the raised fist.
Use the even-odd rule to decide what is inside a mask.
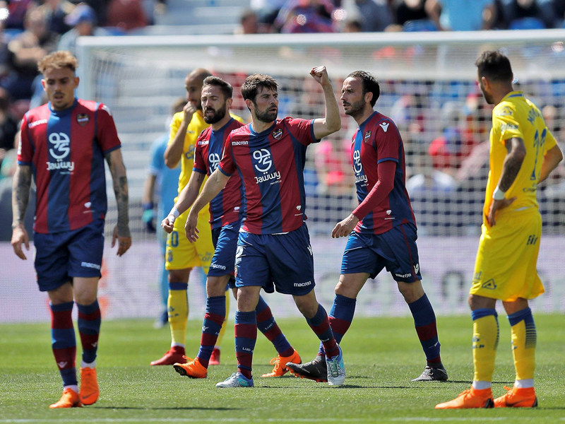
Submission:
[[[377,164],[396,162],[394,185],[386,199],[376,205],[355,227],[356,232],[381,234],[403,223],[416,223],[405,187],[404,145],[400,131],[389,117],[374,112],[352,137],[351,157],[357,201],[364,201],[379,180]]]

